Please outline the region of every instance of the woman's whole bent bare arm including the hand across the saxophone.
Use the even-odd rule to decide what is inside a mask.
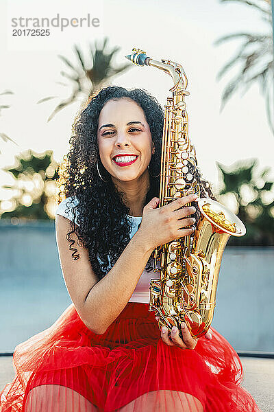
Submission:
[[[79,259],[71,259],[66,240],[66,233],[70,231],[69,220],[56,216],[56,238],[66,287],[79,316],[90,330],[103,334],[119,316],[155,247],[193,232],[193,228],[188,226],[194,221],[188,216],[195,212],[195,207],[183,206],[195,198],[196,195],[177,198],[160,208],[157,208],[159,198],[151,199],[143,209],[140,229],[129,240],[107,275],[100,280],[92,270],[88,250],[78,244],[75,233],[71,234],[71,238],[77,245]]]

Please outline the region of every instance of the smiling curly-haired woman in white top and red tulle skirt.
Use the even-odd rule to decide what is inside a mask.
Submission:
[[[193,339],[182,323],[180,339],[148,311],[153,249],[190,235],[199,217],[185,206],[195,196],[158,207],[162,126],[141,89],[102,89],[80,113],[55,221],[73,304],[16,347],[1,411],[259,411],[223,336]]]

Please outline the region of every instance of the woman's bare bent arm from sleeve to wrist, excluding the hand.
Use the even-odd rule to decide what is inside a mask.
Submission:
[[[147,244],[142,231],[137,231],[108,274],[99,280],[90,265],[88,249],[77,243],[75,233],[71,239],[75,240],[79,259],[71,258],[66,240],[66,233],[71,231],[69,220],[56,215],[55,228],[62,273],[71,300],[86,326],[103,334],[132,296],[153,247]]]

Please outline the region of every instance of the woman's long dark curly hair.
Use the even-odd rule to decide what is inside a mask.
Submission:
[[[72,197],[72,200],[76,198],[78,201],[77,205],[71,203],[71,209],[74,220],[78,216],[79,225],[75,225],[75,222],[71,221],[71,231],[66,235],[66,239],[71,243],[69,249],[73,251],[72,258],[74,260],[79,258],[77,249],[72,247],[75,241],[70,237],[75,232],[82,246],[88,249],[90,264],[99,279],[108,273],[108,255],[110,264],[113,266],[127,246],[130,240],[129,233],[132,229],[132,223],[127,218],[129,207],[125,205],[124,194],[118,192],[110,173],[103,167],[97,145],[97,128],[101,109],[109,100],[119,98],[133,100],[144,111],[155,145],[149,170],[153,176],[160,174],[164,123],[162,107],[147,91],[143,89],[128,90],[123,87],[105,87],[97,95],[90,98],[86,108],[75,119],[73,135],[69,140],[71,148],[64,157],[60,170],[58,170],[59,202],[60,199],[69,196]],[[99,177],[96,167],[97,161],[106,183]],[[201,179],[198,170],[195,177],[201,186],[201,197],[215,199],[210,183]],[[153,178],[150,175],[149,183],[145,205],[154,196],[159,197],[160,193],[160,177]],[[199,218],[199,216],[196,217]],[[99,262],[98,257],[102,263]],[[147,271],[151,271],[153,268],[152,258],[151,253],[145,267]]]

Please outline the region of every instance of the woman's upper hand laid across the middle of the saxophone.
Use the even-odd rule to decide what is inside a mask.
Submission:
[[[193,206],[186,206],[197,199],[197,195],[190,194],[183,198],[162,207],[158,207],[159,198],[154,197],[142,211],[142,222],[139,233],[143,233],[143,238],[151,249],[171,242],[172,240],[189,236],[194,232],[191,227],[195,223],[194,214],[196,209]]]

